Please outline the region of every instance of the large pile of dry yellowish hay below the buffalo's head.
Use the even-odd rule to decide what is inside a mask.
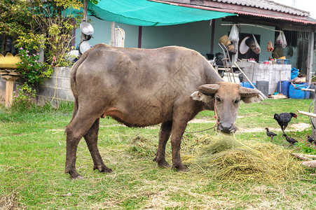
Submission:
[[[186,162],[191,169],[216,179],[275,182],[297,179],[304,172],[291,151],[275,144],[208,138],[212,140],[207,139],[208,144]]]

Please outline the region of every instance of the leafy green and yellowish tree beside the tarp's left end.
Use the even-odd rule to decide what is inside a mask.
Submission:
[[[28,50],[27,53],[34,55],[43,49],[43,69],[37,72],[38,79],[30,82],[27,79],[29,70],[25,68],[25,62],[24,65],[20,65],[19,71],[27,83],[30,85],[41,83],[43,78],[53,73],[52,66],[69,64],[65,55],[71,50],[75,22],[81,17],[74,17],[67,13],[67,9],[80,9],[82,6],[79,0],[2,0],[0,2],[0,35],[3,39],[1,51],[6,52],[8,37],[15,41],[15,47],[22,54],[25,51],[21,50]]]

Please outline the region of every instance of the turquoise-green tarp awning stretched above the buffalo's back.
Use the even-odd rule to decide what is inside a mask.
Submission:
[[[212,20],[235,14],[146,0],[99,0],[97,5],[88,2],[88,15],[127,25],[163,26]]]

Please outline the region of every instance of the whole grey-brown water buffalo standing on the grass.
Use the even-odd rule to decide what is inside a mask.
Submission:
[[[97,44],[71,69],[74,114],[66,127],[65,172],[73,179],[76,149],[84,137],[93,169],[112,172],[97,148],[99,118],[111,116],[130,127],[161,123],[156,158],[160,167],[172,134],[172,169],[185,171],[180,158],[181,138],[188,121],[202,110],[214,110],[218,129],[235,132],[240,101],[259,99],[259,92],[222,80],[207,59],[195,50],[170,46],[157,49],[113,48]]]

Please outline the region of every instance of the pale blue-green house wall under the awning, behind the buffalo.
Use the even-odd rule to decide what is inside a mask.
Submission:
[[[111,22],[99,20],[94,17],[89,17],[92,26],[95,29],[93,36],[89,43],[95,45],[97,43],[109,43],[111,39]],[[88,18],[88,19],[89,19]],[[215,20],[215,35],[214,35],[214,54],[223,52],[217,44],[219,38],[231,31],[231,26],[223,26],[221,19]],[[138,47],[138,30],[139,27],[132,25],[124,25],[116,23],[125,31],[125,47],[137,48]],[[274,29],[273,27],[269,27]],[[268,57],[270,53],[266,52],[268,41],[274,43],[274,31],[262,29],[252,26],[241,26],[241,33],[260,34],[261,35],[261,54],[259,60],[262,62]],[[76,30],[76,45],[80,41],[81,31]],[[209,21],[200,21],[186,23],[182,25],[173,26],[160,26],[160,27],[142,27],[142,48],[159,48],[166,45],[179,45],[186,48],[197,50],[202,55],[210,52],[211,46],[211,27]]]

